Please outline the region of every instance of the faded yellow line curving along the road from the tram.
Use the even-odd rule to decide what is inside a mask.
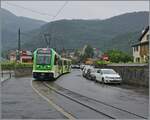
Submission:
[[[59,107],[58,105],[56,105],[53,101],[51,101],[50,99],[48,99],[47,97],[45,97],[44,95],[42,95],[37,89],[35,89],[33,87],[33,84],[32,84],[32,80],[31,80],[31,87],[32,89],[39,95],[41,96],[44,100],[46,100],[50,105],[52,105],[57,111],[61,112],[64,116],[66,116],[67,118],[73,120],[73,119],[76,119],[74,118],[71,114],[65,112],[65,110],[61,107]]]

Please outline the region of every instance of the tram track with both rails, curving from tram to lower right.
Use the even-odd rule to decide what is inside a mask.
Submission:
[[[111,119],[147,119],[144,116],[138,115],[128,110],[118,108],[103,101],[89,98],[69,89],[63,88],[55,83],[51,84],[50,82],[43,82],[43,84],[57,94],[62,95],[85,107],[88,107],[89,109],[92,109],[95,112],[103,114]]]

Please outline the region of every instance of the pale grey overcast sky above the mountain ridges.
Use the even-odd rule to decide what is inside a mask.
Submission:
[[[51,21],[65,1],[2,1],[17,16]],[[106,19],[127,12],[149,11],[149,1],[69,1],[54,19]]]

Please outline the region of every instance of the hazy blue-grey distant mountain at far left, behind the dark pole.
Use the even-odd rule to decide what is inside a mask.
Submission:
[[[17,45],[18,29],[28,32],[40,28],[46,22],[26,17],[18,17],[8,10],[1,8],[2,16],[2,49],[7,50]]]

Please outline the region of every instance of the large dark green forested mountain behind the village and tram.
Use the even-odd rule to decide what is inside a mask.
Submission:
[[[91,44],[101,51],[118,48],[131,53],[131,41],[137,40],[141,31],[148,25],[148,16],[148,12],[133,12],[106,20],[50,22],[22,37],[22,48],[33,50],[46,47],[43,35],[49,33],[52,38],[51,47],[57,49],[80,48],[84,44]]]

